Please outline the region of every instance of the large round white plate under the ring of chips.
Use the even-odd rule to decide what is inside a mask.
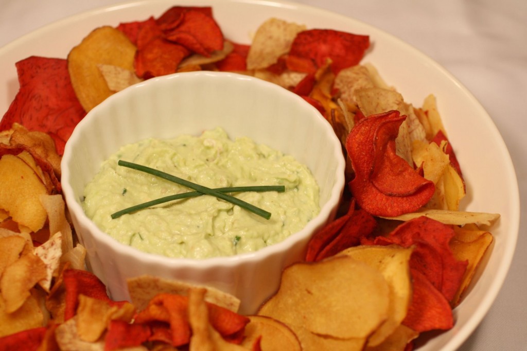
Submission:
[[[158,16],[178,5],[212,6],[214,17],[231,40],[250,43],[250,35],[269,17],[367,34],[372,41],[364,62],[372,62],[407,102],[422,104],[433,93],[448,137],[467,181],[462,206],[470,211],[501,213],[492,228],[495,238],[485,270],[469,296],[455,310],[456,325],[421,345],[419,350],[454,350],[483,319],[509,270],[520,222],[518,182],[505,143],[474,96],[443,67],[412,46],[377,28],[345,16],[301,4],[258,0],[144,0],[86,12],[45,26],[0,48],[0,115],[13,100],[18,83],[15,62],[31,55],[65,58],[93,28]]]

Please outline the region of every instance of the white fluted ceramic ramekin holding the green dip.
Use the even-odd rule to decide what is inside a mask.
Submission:
[[[217,126],[231,138],[249,137],[307,165],[320,187],[320,212],[304,229],[252,253],[169,258],[123,245],[86,216],[84,187],[120,147],[146,138],[199,135]],[[241,313],[252,313],[277,289],[281,270],[300,260],[313,233],[335,217],[345,160],[329,123],[298,95],[244,75],[192,72],[144,81],[97,105],[76,126],[61,167],[64,197],[87,264],[113,299],[129,299],[127,278],[151,275],[221,289],[241,300]]]

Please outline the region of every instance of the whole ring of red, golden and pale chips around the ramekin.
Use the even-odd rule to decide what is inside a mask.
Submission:
[[[499,217],[460,211],[466,188],[433,95],[405,102],[363,63],[364,34],[270,18],[250,44],[211,7],[95,28],[67,58],[16,63],[0,121],[0,350],[409,350],[455,324]],[[337,218],[311,238],[255,315],[216,289],[154,277],[113,301],[85,270],[60,188],[75,125],[113,93],[155,76],[230,71],[313,104],[347,159]]]

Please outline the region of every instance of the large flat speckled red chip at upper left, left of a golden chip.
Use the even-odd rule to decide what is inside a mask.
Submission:
[[[0,131],[13,123],[51,135],[58,154],[85,115],[62,58],[30,56],[16,63],[20,89],[0,121]]]

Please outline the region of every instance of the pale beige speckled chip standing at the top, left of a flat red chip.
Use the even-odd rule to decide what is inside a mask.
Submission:
[[[265,69],[287,54],[296,35],[305,31],[305,25],[269,18],[262,23],[252,38],[247,55],[247,69]]]

